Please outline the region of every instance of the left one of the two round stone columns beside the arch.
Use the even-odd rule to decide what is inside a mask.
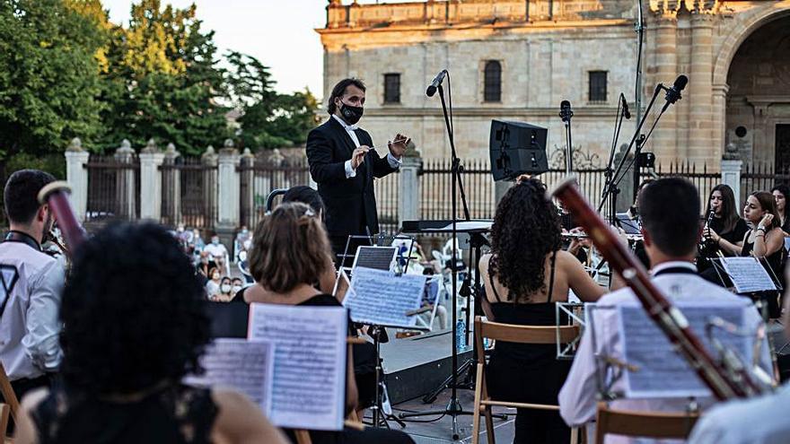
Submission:
[[[655,78],[657,82],[672,82],[678,76],[677,28],[678,23],[672,17],[660,17],[654,25]],[[645,100],[647,99],[645,98]],[[663,100],[657,100],[656,105],[663,106]],[[677,116],[677,110],[674,109],[664,113],[661,124],[655,128],[655,134],[651,136],[649,150],[656,153],[659,162],[669,162],[680,158],[677,144]]]

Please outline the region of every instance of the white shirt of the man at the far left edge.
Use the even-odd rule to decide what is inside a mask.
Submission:
[[[58,343],[63,267],[40,250],[11,241],[0,243],[0,265],[7,285],[14,270],[18,275],[0,315],[0,361],[8,379],[57,370],[63,358]]]

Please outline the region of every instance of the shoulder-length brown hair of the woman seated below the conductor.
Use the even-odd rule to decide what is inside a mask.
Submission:
[[[319,282],[331,264],[329,238],[312,208],[297,202],[278,205],[255,228],[250,273],[272,292]]]

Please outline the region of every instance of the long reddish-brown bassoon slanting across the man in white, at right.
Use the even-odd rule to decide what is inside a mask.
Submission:
[[[663,331],[678,353],[689,362],[691,368],[697,371],[699,378],[717,399],[754,396],[764,391],[746,371],[733,374],[714,360],[697,335],[691,331],[689,321],[680,309],[672,306],[655,287],[645,267],[584,200],[584,196],[575,187],[575,178],[567,178],[561,182],[551,196],[556,196],[574,213],[576,222],[584,227],[601,255],[609,261],[611,268],[623,276],[648,316]]]

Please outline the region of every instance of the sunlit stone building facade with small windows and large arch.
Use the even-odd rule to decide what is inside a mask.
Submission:
[[[565,147],[557,113],[569,100],[576,164],[601,165],[620,92],[634,113],[636,16],[632,0],[330,0],[317,30],[324,91],[343,77],[363,79],[363,125],[374,141],[400,132],[423,156],[449,157],[439,100],[425,94],[446,68],[461,157],[487,157],[491,119],[511,119],[548,127],[557,165]],[[729,146],[746,163],[790,167],[790,0],[645,0],[644,18],[643,108],[656,83],[689,77],[645,150],[663,163],[718,170]],[[662,94],[654,111],[663,103]]]

